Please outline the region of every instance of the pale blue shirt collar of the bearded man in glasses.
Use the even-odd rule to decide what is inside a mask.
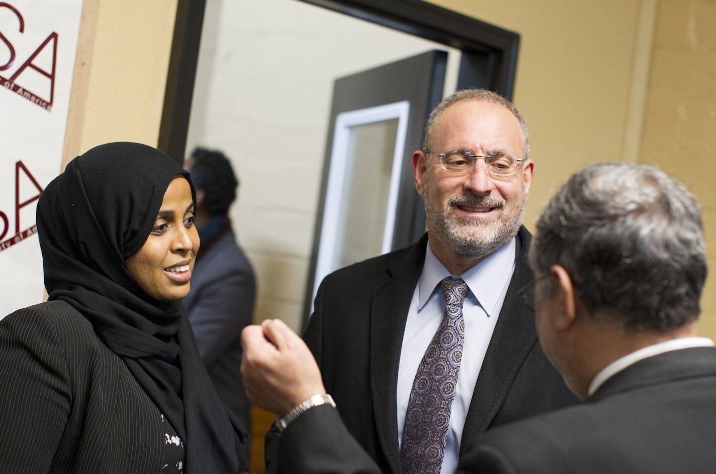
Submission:
[[[468,284],[470,290],[468,297],[472,295],[488,316],[492,314],[505,285],[512,277],[516,259],[515,252],[516,240],[513,237],[510,242],[488,255],[485,260],[460,275]],[[450,272],[432,253],[430,241],[428,241],[425,249],[425,264],[422,265],[418,282],[418,310],[422,310],[442,279],[448,276],[450,276]]]

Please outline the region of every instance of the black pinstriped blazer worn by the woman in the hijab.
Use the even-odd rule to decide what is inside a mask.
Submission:
[[[159,474],[159,409],[65,302],[0,321],[0,471]]]

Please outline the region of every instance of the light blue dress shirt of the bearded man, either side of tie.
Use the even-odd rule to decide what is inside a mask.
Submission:
[[[513,238],[478,265],[460,275],[469,288],[463,303],[465,345],[458,374],[458,387],[450,410],[448,445],[445,448],[445,458],[442,460],[442,473],[453,473],[458,465],[465,417],[468,415],[475,382],[478,380],[485,352],[488,350],[507,287],[512,279],[515,252],[516,240]],[[396,397],[399,444],[402,440],[405,412],[415,372],[437,327],[440,326],[445,310],[440,282],[449,275],[450,272],[432,253],[428,242],[425,265],[422,267],[420,280],[412,295],[400,351]]]

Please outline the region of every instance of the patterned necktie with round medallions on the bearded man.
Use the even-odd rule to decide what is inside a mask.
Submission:
[[[462,278],[442,280],[445,315],[417,367],[405,413],[400,447],[403,474],[440,473],[448,442],[450,407],[463,359],[463,300],[468,285]]]

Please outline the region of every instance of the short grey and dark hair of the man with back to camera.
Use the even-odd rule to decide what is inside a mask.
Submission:
[[[654,167],[595,164],[543,210],[530,262],[536,275],[564,267],[595,319],[629,332],[680,327],[697,319],[706,279],[701,206]]]

